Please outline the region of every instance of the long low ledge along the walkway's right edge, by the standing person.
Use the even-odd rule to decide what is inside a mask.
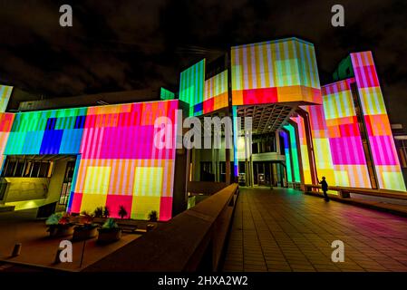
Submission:
[[[320,185],[316,184],[305,184],[305,191],[309,192],[312,189],[321,189]],[[338,191],[342,198],[350,198],[350,193],[361,194],[365,196],[381,197],[381,198],[398,198],[407,200],[407,192],[396,191],[389,189],[356,189],[356,188],[346,188],[346,187],[328,187],[328,190]]]

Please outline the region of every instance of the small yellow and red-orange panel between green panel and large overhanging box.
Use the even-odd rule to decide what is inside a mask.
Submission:
[[[205,81],[203,113],[228,107],[228,71]]]

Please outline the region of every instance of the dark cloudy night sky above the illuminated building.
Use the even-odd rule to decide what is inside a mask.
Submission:
[[[73,27],[59,25],[63,4]],[[331,25],[334,4],[345,27]],[[404,0],[0,0],[0,36],[0,83],[48,98],[177,90],[179,72],[203,57],[288,36],[315,44],[324,84],[347,53],[371,50],[391,119],[407,126]]]

